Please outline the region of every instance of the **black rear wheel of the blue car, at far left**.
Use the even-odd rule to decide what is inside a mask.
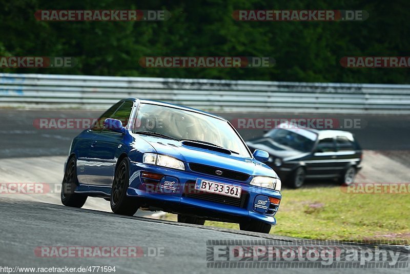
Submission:
[[[61,183],[60,198],[63,205],[80,208],[86,203],[87,195],[74,192],[77,186],[77,160],[73,156],[67,163],[63,183]]]

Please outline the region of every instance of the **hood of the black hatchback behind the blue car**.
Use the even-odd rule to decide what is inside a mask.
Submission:
[[[254,149],[265,150],[269,155],[274,156],[275,158],[281,158],[284,161],[289,161],[309,154],[309,152],[306,153],[298,150],[286,149],[280,145],[276,145],[270,138],[265,137],[248,141],[247,145]]]

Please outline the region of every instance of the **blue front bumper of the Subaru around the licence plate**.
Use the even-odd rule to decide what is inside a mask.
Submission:
[[[162,180],[147,179],[143,172],[163,175]],[[144,173],[146,174],[146,173]],[[164,179],[165,178],[165,179]],[[209,180],[242,188],[241,198],[223,197],[214,193],[198,193],[194,188],[197,179]],[[175,180],[176,179],[176,180]],[[238,223],[243,220],[258,220],[271,225],[276,224],[275,213],[279,205],[265,201],[264,205],[256,205],[259,199],[281,199],[279,191],[252,186],[252,177],[245,182],[220,178],[208,174],[187,170],[175,170],[160,166],[137,162],[130,164],[130,185],[127,190],[129,197],[138,197],[147,204],[154,205],[164,211],[183,213],[210,220]],[[168,180],[168,181],[167,181]],[[165,189],[164,181],[176,181],[172,190]],[[203,195],[202,195],[203,194]],[[268,199],[269,200],[269,199]],[[259,202],[263,204],[264,201]],[[261,207],[267,207],[268,210]],[[266,211],[261,213],[261,211]]]

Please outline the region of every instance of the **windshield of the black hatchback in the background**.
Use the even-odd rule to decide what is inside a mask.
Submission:
[[[312,151],[317,134],[304,129],[287,130],[276,128],[268,136],[276,143],[294,150]]]

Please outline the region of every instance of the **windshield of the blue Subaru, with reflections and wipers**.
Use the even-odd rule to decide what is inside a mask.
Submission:
[[[133,132],[198,141],[231,150],[233,155],[250,157],[245,144],[227,121],[194,111],[140,104]]]

